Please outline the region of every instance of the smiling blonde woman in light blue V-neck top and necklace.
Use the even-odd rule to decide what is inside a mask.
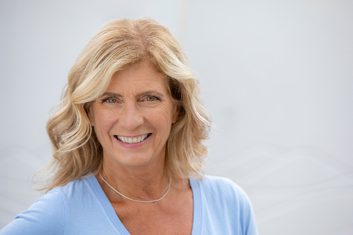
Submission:
[[[1,234],[257,234],[239,186],[203,175],[210,123],[198,95],[164,26],[105,25],[48,121],[49,192]]]

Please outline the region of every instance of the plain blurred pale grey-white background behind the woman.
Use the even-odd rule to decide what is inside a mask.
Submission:
[[[260,234],[353,234],[353,1],[0,0],[0,228],[41,194],[45,125],[107,21],[153,17],[200,79],[206,172],[248,193]]]

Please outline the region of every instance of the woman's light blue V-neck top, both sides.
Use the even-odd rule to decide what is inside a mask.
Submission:
[[[231,180],[206,175],[189,180],[193,191],[192,234],[258,234],[250,201]],[[129,234],[90,175],[42,196],[0,234]]]

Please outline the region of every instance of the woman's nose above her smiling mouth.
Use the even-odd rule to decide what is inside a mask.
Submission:
[[[135,130],[144,123],[144,117],[141,115],[136,103],[126,103],[123,112],[119,118],[119,123],[128,130]]]

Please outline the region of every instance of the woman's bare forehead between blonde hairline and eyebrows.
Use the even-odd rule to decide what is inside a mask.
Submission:
[[[127,69],[117,71],[110,80],[110,89],[166,89],[167,80],[164,73],[157,70],[154,64],[146,60],[133,64]]]

